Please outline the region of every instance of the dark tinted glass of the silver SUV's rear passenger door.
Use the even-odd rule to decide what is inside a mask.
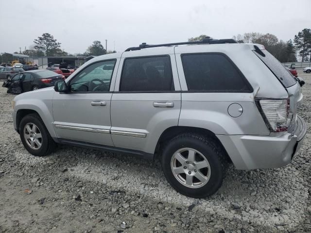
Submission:
[[[120,91],[171,90],[174,86],[169,56],[125,59]]]

